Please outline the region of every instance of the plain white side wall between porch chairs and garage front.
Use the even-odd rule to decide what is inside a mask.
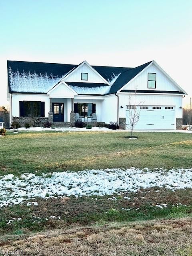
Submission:
[[[117,96],[110,95],[102,102],[102,122],[117,122]]]

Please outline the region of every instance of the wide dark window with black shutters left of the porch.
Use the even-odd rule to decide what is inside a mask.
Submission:
[[[20,101],[20,116],[41,117],[45,116],[45,102],[42,101]]]

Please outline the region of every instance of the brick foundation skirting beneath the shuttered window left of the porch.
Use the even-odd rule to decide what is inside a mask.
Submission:
[[[31,124],[32,122],[34,122],[35,126],[42,127],[44,123],[48,122],[48,117],[13,117],[13,122],[18,122],[20,127],[25,127],[25,124]]]

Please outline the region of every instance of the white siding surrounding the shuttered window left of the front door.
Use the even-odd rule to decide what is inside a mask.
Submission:
[[[20,101],[44,101],[45,102],[45,117],[49,113],[49,96],[43,94],[12,94],[12,116],[19,116],[19,102]]]

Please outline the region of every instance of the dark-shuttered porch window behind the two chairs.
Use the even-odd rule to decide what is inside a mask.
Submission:
[[[96,112],[95,103],[75,103],[74,112],[79,113],[80,117],[91,117]]]

